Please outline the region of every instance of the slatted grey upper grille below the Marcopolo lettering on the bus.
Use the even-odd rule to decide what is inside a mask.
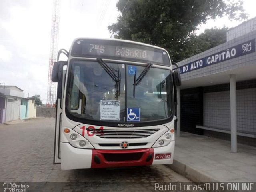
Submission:
[[[130,129],[130,130],[117,130],[117,129],[86,129],[90,134],[95,134],[100,138],[120,139],[120,138],[146,138],[160,129]]]

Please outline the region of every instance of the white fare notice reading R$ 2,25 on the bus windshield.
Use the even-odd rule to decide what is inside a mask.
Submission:
[[[120,120],[120,101],[100,100],[100,120]]]

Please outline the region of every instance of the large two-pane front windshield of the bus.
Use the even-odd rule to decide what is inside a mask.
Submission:
[[[170,117],[173,110],[171,71],[150,68],[134,86],[146,66],[97,61],[70,62],[66,108],[72,116],[94,121],[147,122]],[[120,81],[111,76],[114,73]],[[129,110],[138,110],[128,118]],[[132,114],[132,113],[131,113]]]

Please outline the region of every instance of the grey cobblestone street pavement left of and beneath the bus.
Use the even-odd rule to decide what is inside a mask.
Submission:
[[[53,164],[54,125],[53,118],[0,125],[0,182],[42,182],[30,186],[63,192],[150,191],[155,182],[188,182],[164,165],[61,170]]]

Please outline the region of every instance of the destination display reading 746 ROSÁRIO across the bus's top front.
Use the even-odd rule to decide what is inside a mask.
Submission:
[[[71,54],[170,66],[168,54],[164,50],[114,40],[80,39],[74,43]]]

